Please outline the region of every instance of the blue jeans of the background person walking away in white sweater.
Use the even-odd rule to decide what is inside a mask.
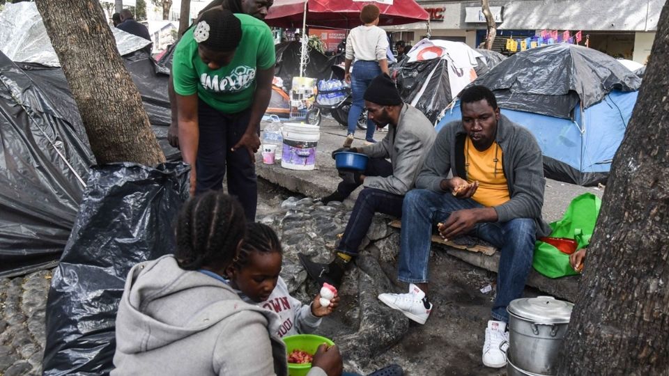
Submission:
[[[353,72],[351,72],[351,93],[353,95],[353,104],[348,110],[348,134],[355,132],[357,127],[357,119],[360,118],[362,109],[364,109],[364,91],[367,90],[371,80],[381,74],[381,68],[376,61],[358,60],[353,64]],[[374,131],[376,124],[367,119],[367,135],[365,140],[374,140]]]

